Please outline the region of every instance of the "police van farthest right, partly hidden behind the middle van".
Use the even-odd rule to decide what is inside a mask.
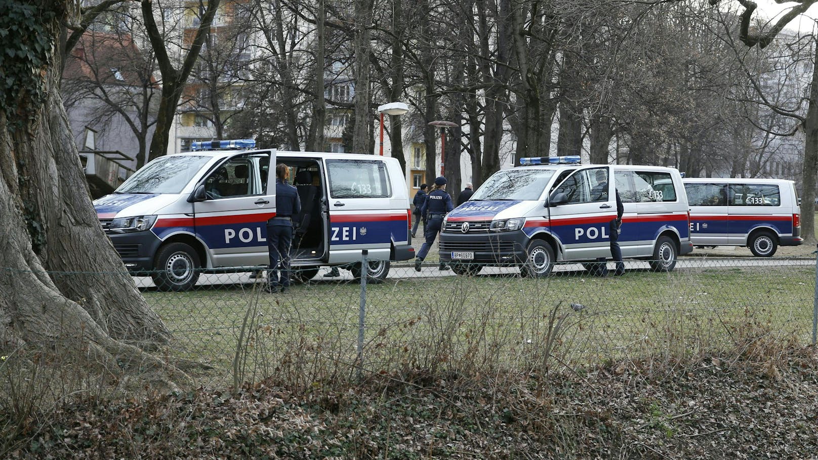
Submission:
[[[795,183],[782,179],[684,178],[695,246],[747,246],[771,257],[798,246],[801,210]]]

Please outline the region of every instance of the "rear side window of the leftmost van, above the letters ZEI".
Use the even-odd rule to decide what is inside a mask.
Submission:
[[[332,198],[392,196],[386,164],[379,160],[326,160]]]

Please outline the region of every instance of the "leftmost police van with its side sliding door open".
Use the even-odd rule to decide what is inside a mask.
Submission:
[[[380,282],[392,260],[414,257],[411,214],[398,160],[383,156],[255,150],[252,140],[194,142],[163,156],[94,201],[131,272],[185,291],[200,272],[267,265],[267,219],[276,215],[275,165],[290,168],[301,213],[293,216],[294,281],[344,266]]]

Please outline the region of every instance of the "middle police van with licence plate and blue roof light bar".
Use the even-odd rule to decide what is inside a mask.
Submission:
[[[580,165],[578,156],[524,158],[521,164],[497,171],[447,214],[440,259],[455,273],[516,265],[525,277],[545,277],[557,261],[596,268],[597,258],[611,258],[614,190],[624,207],[618,237],[623,257],[671,271],[678,255],[693,250],[678,170]]]

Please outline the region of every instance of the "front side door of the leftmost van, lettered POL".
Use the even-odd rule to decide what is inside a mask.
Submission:
[[[209,248],[211,268],[269,263],[267,220],[276,215],[275,165],[275,150],[241,152],[196,187],[196,237]]]

